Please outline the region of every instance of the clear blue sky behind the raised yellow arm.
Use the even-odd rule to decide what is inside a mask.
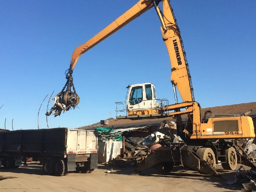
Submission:
[[[43,98],[65,85],[74,49],[122,15],[130,1],[0,1],[0,128],[37,129]],[[255,102],[256,1],[178,1],[177,18],[201,107]],[[161,4],[160,4],[161,6]],[[126,86],[156,84],[174,103],[170,60],[154,9],[83,54],[73,77],[80,108],[48,117],[50,128],[75,128],[116,116]],[[179,98],[181,102],[181,99]],[[44,101],[39,127],[47,128]]]

